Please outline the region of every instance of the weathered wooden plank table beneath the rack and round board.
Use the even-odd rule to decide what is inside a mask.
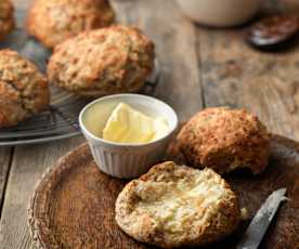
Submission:
[[[297,2],[297,3],[296,3]],[[26,9],[28,0],[15,0]],[[299,140],[299,44],[282,53],[249,48],[243,29],[216,30],[186,19],[173,0],[115,0],[121,23],[142,28],[156,43],[162,83],[155,96],[181,120],[208,106],[245,107],[271,131]],[[297,11],[296,0],[265,2],[266,11]],[[27,205],[34,186],[82,136],[42,145],[0,148],[0,248],[31,248]]]

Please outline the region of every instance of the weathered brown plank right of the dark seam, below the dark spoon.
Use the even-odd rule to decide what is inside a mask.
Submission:
[[[271,131],[299,140],[299,44],[261,53],[242,29],[199,28],[197,35],[206,105],[245,107]]]

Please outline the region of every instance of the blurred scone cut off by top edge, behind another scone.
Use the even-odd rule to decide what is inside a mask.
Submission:
[[[46,47],[114,23],[107,0],[35,0],[27,18],[27,30]]]

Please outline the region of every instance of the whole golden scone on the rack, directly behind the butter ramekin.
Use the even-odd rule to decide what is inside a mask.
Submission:
[[[48,76],[52,83],[84,96],[135,92],[152,73],[154,57],[153,42],[139,29],[110,26],[57,45]]]

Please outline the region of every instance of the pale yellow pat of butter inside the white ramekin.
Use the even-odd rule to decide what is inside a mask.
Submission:
[[[152,118],[120,103],[113,110],[103,130],[103,139],[117,143],[147,143],[169,131],[162,118]]]

